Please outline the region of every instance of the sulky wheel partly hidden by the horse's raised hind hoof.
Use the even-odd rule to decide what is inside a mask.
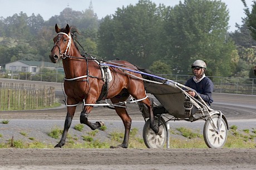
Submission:
[[[154,121],[158,125],[158,117],[155,117]],[[160,118],[159,130],[162,131],[161,135],[156,133],[150,128],[150,120],[147,120],[143,127],[143,139],[147,148],[163,148],[166,141],[166,123],[163,117]]]

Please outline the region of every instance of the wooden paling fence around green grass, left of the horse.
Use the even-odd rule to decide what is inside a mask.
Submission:
[[[0,82],[0,110],[29,110],[52,106],[55,88]]]

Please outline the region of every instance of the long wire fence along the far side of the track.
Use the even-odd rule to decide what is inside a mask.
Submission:
[[[186,80],[191,78],[191,75],[170,75],[157,74],[163,78],[177,81],[185,84]],[[63,73],[37,73],[31,74],[26,72],[18,72],[11,74],[0,74],[0,78],[18,79],[18,80],[33,80],[33,81],[49,81],[49,82],[63,82],[65,75]],[[256,95],[256,77],[255,79],[248,78],[228,78],[209,76],[214,84],[214,92],[226,92],[233,94],[249,94]]]

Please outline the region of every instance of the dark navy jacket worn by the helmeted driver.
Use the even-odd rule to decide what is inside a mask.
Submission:
[[[205,78],[199,83],[195,83],[193,78],[190,78],[188,81],[186,81],[185,86],[188,86],[198,92],[198,94],[209,106],[213,102],[213,97],[211,97],[211,94],[213,93],[213,82],[207,76],[205,76]]]

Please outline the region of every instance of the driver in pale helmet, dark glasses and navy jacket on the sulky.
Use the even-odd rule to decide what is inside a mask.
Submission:
[[[206,64],[203,60],[195,60],[195,62],[191,65],[191,69],[193,69],[193,78],[190,78],[186,81],[185,86],[194,89],[198,92],[198,95],[210,106],[213,102],[213,97],[211,94],[213,93],[213,82],[205,76]],[[188,93],[198,99],[198,96],[194,91],[188,91]]]

